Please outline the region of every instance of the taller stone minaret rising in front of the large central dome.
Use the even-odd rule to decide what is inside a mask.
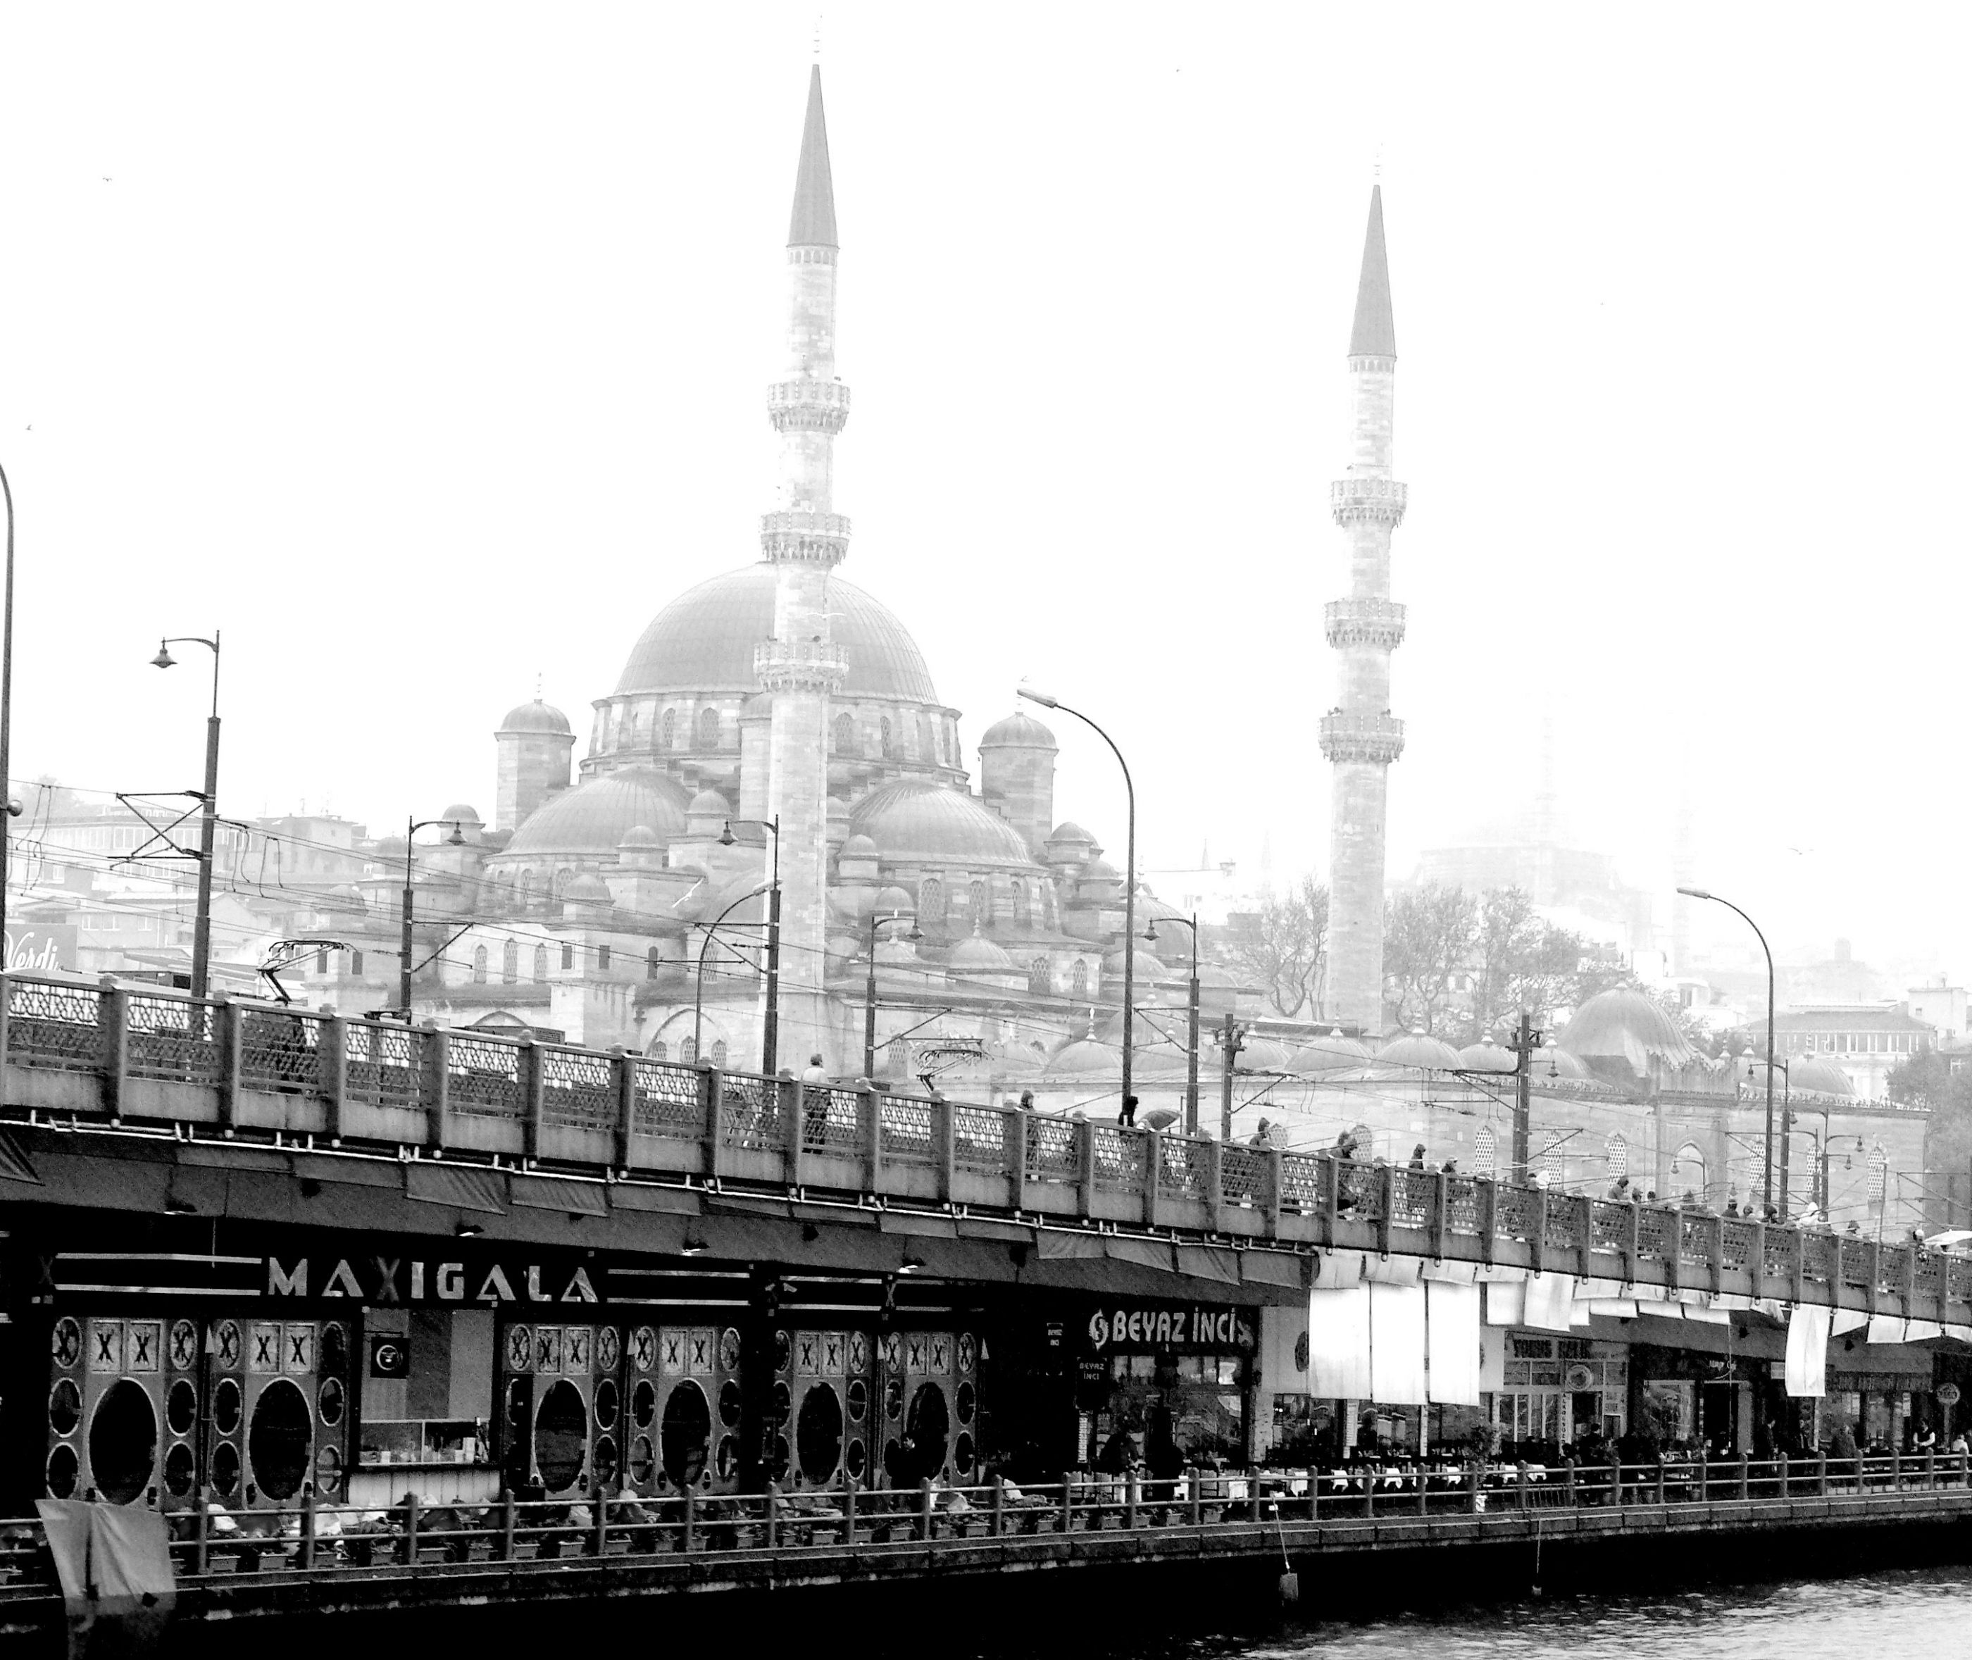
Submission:
[[[834,444],[850,414],[836,379],[836,197],[828,177],[822,69],[809,75],[795,213],[787,229],[789,365],[767,388],[781,434],[779,505],[761,519],[761,552],[775,568],[773,639],[753,649],[771,694],[767,816],[781,822],[781,1031],[775,1065],[801,1071],[832,1051],[822,1002],[828,873],[828,698],[848,674],[828,641],[828,572],[850,520],[834,511]]]

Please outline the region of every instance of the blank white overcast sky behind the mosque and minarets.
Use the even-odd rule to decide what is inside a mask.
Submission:
[[[0,6],[16,777],[491,812],[755,558],[812,6]],[[1398,333],[1392,873],[1562,802],[1972,974],[1968,14],[832,4],[844,576],[1144,862],[1325,867],[1349,310]],[[1063,726],[1071,726],[1063,722]],[[1122,848],[1063,731],[1057,810]],[[1722,913],[1724,915],[1724,913]],[[1731,917],[1724,917],[1733,923]]]

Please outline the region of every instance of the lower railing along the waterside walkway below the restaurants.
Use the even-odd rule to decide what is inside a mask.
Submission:
[[[1067,1481],[976,1487],[919,1483],[866,1488],[854,1483],[783,1492],[665,1498],[598,1496],[485,1506],[420,1504],[410,1494],[387,1510],[302,1498],[268,1510],[229,1512],[193,1502],[166,1526],[181,1583],[243,1575],[375,1577],[402,1569],[444,1577],[477,1563],[667,1557],[722,1552],[810,1552],[937,1542],[1098,1534],[1110,1530],[1258,1530],[1302,1522],[1463,1518],[1513,1512],[1911,1498],[1972,1487],[1964,1453],[1917,1457],[1826,1455],[1706,1461],[1670,1453],[1653,1463],[1560,1465],[1414,1461],[1345,1469],[1187,1469],[1173,1479],[1077,1473]],[[1816,1514],[1824,1514],[1818,1506]],[[51,1595],[55,1575],[35,1518],[0,1522],[0,1601]]]

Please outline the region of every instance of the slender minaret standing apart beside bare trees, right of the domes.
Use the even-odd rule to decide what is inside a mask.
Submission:
[[[1333,1017],[1382,1029],[1382,840],[1390,763],[1404,724],[1390,718],[1390,653],[1404,639],[1404,607],[1390,599],[1390,532],[1404,487],[1390,477],[1396,396],[1396,325],[1382,248],[1382,185],[1371,191],[1355,331],[1355,436],[1349,477],[1329,487],[1349,536],[1349,597],[1327,605],[1329,645],[1341,653],[1341,696],[1321,718],[1321,753],[1333,765],[1329,810],[1329,986]]]

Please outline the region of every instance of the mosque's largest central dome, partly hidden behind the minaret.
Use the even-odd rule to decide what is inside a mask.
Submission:
[[[773,566],[761,562],[680,593],[643,631],[615,694],[757,690],[753,647],[773,635]],[[939,702],[903,623],[840,576],[828,578],[828,637],[850,660],[840,696]]]

